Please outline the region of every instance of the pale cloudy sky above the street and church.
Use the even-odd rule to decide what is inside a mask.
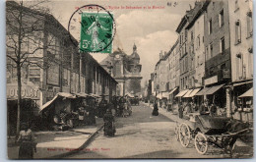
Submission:
[[[175,2],[176,5],[174,6]],[[46,5],[51,14],[67,28],[69,19],[76,7],[89,4],[100,5],[113,14],[116,23],[113,50],[121,48],[130,55],[134,43],[137,45],[137,52],[141,57],[141,75],[144,84],[155,70],[160,51],[169,51],[176,41],[176,27],[178,27],[186,10],[190,9],[190,5],[194,6],[194,0],[54,0],[43,5]],[[153,6],[160,7],[160,9],[153,9]],[[146,7],[146,9],[127,9],[127,7]],[[71,33],[79,39],[79,32],[79,27],[77,27],[78,36],[75,32],[73,32],[74,34]],[[105,54],[93,54],[93,56],[98,62],[106,57]]]

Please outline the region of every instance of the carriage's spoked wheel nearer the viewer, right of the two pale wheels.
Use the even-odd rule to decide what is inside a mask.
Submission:
[[[195,137],[195,147],[198,153],[205,154],[208,150],[208,141],[206,135],[198,133]]]

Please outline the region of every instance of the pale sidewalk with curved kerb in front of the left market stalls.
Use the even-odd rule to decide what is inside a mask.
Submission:
[[[61,158],[85,149],[102,126],[102,118],[96,118],[95,126],[82,126],[65,132],[36,132],[37,151],[33,158]],[[19,146],[14,141],[14,138],[8,139],[9,159],[18,159]]]

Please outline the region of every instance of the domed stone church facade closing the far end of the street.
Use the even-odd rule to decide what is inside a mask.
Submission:
[[[135,95],[141,92],[142,65],[135,44],[131,55],[118,49],[101,61],[100,65],[118,82],[117,95]]]

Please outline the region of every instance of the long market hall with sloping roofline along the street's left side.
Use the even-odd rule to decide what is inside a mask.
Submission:
[[[93,93],[108,100],[116,94],[118,82],[89,53],[79,52],[77,40],[52,15],[11,1],[6,9],[10,109],[17,104],[17,65],[21,68],[22,98],[32,99],[37,110],[58,92]]]

